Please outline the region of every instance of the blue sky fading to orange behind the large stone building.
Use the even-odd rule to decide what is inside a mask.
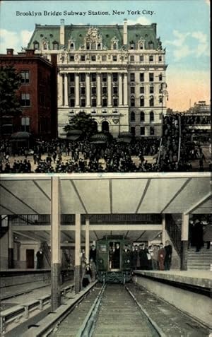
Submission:
[[[89,15],[89,11],[100,13]],[[183,111],[199,100],[211,103],[210,0],[2,0],[0,53],[5,54],[6,48],[20,52],[28,45],[35,23],[59,25],[61,18],[65,25],[122,25],[125,18],[128,25],[157,23],[157,35],[166,48],[167,107]]]

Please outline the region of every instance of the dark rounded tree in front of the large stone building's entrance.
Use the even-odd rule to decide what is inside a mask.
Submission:
[[[83,138],[85,139],[90,138],[90,136],[98,132],[95,119],[85,112],[79,112],[71,117],[69,124],[64,126],[64,130],[66,132],[71,130],[81,130]]]

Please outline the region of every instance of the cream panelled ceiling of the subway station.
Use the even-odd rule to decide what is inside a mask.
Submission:
[[[0,213],[50,214],[52,177],[59,181],[62,214],[211,213],[210,172],[25,174],[0,176]],[[55,194],[55,191],[53,191]],[[134,241],[153,240],[161,224],[90,226],[90,241],[118,234]],[[74,242],[74,226],[61,230],[61,242]],[[50,226],[16,227],[19,240],[50,240]],[[33,230],[33,231],[32,231]],[[82,226],[82,242],[85,241]]]

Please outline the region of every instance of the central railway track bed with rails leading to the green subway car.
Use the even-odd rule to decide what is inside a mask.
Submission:
[[[210,331],[138,285],[98,284],[52,337],[204,337]]]

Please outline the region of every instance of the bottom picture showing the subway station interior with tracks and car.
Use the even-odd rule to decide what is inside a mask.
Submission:
[[[0,336],[212,336],[210,172],[4,174]]]

